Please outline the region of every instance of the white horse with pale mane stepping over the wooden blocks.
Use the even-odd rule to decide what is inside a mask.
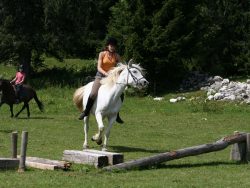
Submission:
[[[122,101],[121,94],[124,92],[126,86],[130,85],[142,89],[148,85],[148,81],[143,76],[143,69],[138,64],[132,64],[130,61],[128,65],[119,64],[117,67],[109,71],[106,78],[101,80],[101,87],[98,90],[98,96],[91,109],[91,113],[95,115],[98,123],[98,133],[92,137],[97,144],[102,143],[102,134],[104,132],[103,119],[108,119],[108,127],[104,134],[104,143],[102,150],[106,151],[107,142],[110,134],[110,129],[116,120],[117,113],[120,111]],[[86,108],[87,100],[92,89],[93,82],[78,88],[74,95],[73,101],[80,111]],[[83,148],[88,148],[88,128],[89,116],[84,118],[84,134],[85,139]]]

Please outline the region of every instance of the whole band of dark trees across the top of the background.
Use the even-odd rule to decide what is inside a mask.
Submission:
[[[0,63],[30,73],[45,57],[95,59],[114,36],[123,61],[147,69],[151,91],[194,70],[248,75],[249,8],[247,0],[1,0]]]

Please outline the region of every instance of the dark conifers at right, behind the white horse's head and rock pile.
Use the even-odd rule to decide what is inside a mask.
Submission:
[[[143,62],[151,81],[172,87],[191,70],[246,72],[249,23],[245,0],[122,0],[108,31],[126,58]]]

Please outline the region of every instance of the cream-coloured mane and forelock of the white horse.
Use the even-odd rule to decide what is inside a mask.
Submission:
[[[107,77],[105,77],[101,80],[101,84],[103,84],[103,85],[107,84],[109,86],[114,85],[116,83],[120,73],[127,67],[128,67],[128,65],[124,65],[122,63],[119,63],[117,67],[112,68],[108,72]],[[132,64],[132,67],[139,69],[141,71],[141,73],[144,75],[144,69],[139,64]]]

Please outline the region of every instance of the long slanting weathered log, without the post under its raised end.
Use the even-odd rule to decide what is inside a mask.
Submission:
[[[104,170],[129,170],[133,168],[145,167],[157,165],[162,162],[171,161],[175,159],[180,159],[188,156],[200,155],[203,153],[209,153],[214,151],[219,151],[225,149],[227,146],[246,141],[246,133],[239,133],[236,135],[231,135],[224,137],[217,142],[210,144],[203,144],[198,146],[193,146],[189,148],[179,149],[171,152],[161,153],[151,157],[145,157],[137,160],[132,160],[124,163],[120,163],[113,166],[104,167]]]

